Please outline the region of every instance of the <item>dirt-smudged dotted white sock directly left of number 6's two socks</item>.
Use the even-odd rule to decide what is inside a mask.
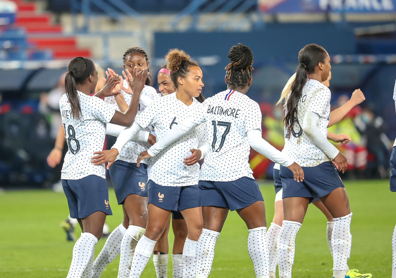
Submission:
[[[121,248],[120,248],[120,265],[118,266],[117,278],[128,278],[131,272],[131,263],[133,258],[133,252],[139,239],[144,235],[146,229],[129,225],[125,231],[124,237],[122,237]]]

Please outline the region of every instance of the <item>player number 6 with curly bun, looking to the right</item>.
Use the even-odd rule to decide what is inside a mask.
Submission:
[[[200,102],[204,100],[201,90],[204,84],[198,64],[191,61],[184,51],[177,49],[169,51],[166,60],[177,91],[154,101],[139,114],[133,126],[120,134],[113,148],[97,156],[96,163],[107,161],[110,162],[110,167],[137,131],[152,125],[156,136],[162,138],[165,131],[175,128],[181,120],[201,110]],[[202,231],[199,165],[196,162],[208,150],[207,135],[201,125],[181,140],[173,141],[152,160],[148,177],[148,222],[145,235],[135,248],[129,277],[140,277],[168,223],[171,210],[177,209],[185,218],[188,229],[183,248],[183,277],[194,277],[196,243]],[[191,156],[188,156],[189,152],[192,152]]]

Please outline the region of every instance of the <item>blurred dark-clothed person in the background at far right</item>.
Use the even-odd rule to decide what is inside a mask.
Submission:
[[[392,143],[386,136],[386,125],[383,118],[376,116],[371,109],[366,107],[354,122],[362,135],[362,141],[366,143],[367,150],[375,156],[373,165],[367,165],[367,168],[378,172],[380,178],[386,178],[389,175],[388,162]],[[376,173],[367,173],[376,175]]]

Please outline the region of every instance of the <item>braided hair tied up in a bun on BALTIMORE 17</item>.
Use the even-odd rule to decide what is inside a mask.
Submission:
[[[253,53],[250,48],[238,43],[231,47],[228,58],[230,64],[225,67],[228,85],[236,88],[246,86],[253,70]]]

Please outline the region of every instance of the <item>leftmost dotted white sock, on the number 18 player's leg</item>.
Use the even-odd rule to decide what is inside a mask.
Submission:
[[[73,247],[72,262],[67,278],[80,278],[84,270],[89,267],[89,260],[95,252],[98,239],[90,233],[82,233]],[[89,270],[90,271],[90,270]]]

